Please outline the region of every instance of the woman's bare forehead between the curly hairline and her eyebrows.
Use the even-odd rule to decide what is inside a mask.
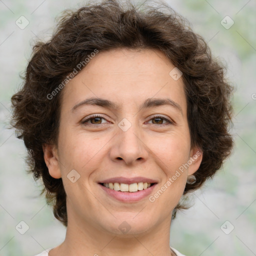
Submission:
[[[159,49],[99,51],[66,84],[62,100],[65,106],[73,108],[79,101],[91,97],[108,98],[119,106],[123,101],[140,106],[146,98],[168,97],[184,108],[183,82],[181,77],[176,80],[171,77],[173,68]]]

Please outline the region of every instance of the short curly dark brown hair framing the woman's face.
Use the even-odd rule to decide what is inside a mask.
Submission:
[[[203,152],[194,173],[196,181],[187,183],[183,194],[212,177],[233,146],[228,133],[232,86],[224,78],[224,66],[211,56],[209,47],[191,30],[188,21],[167,4],[153,7],[126,3],[90,2],[78,10],[64,11],[51,39],[33,46],[22,87],[11,97],[10,123],[27,148],[27,171],[33,173],[35,180],[42,179],[42,193],[46,192],[54,216],[65,226],[66,194],[62,179],[49,175],[42,150],[44,143],[57,145],[61,91],[51,99],[47,95],[95,49],[160,49],[183,73],[191,146],[198,146]],[[179,203],[172,217],[182,207]]]

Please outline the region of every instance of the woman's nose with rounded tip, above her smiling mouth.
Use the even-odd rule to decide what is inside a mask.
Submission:
[[[132,125],[128,130],[119,129],[112,139],[110,158],[112,161],[124,161],[127,165],[143,162],[148,157],[148,148],[141,132]]]

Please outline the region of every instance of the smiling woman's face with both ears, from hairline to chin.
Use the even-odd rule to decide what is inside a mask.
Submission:
[[[170,222],[201,161],[190,147],[184,84],[169,75],[173,68],[158,49],[114,49],[96,54],[65,85],[58,147],[44,153],[50,175],[62,178],[68,222],[120,235],[123,221],[130,234]],[[155,184],[116,196],[99,184],[119,177]]]

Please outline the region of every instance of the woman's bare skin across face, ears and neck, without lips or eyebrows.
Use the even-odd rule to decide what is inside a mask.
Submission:
[[[158,181],[155,193],[200,150],[190,146],[184,84],[169,75],[173,68],[158,49],[114,49],[97,53],[62,89],[58,145],[45,144],[43,151],[50,175],[62,178],[68,224],[65,240],[50,256],[174,255],[169,247],[171,213],[202,154],[153,202],[148,196],[133,203],[117,201],[97,183],[144,176]],[[120,108],[83,105],[71,111],[89,97],[111,100]],[[182,112],[169,105],[139,111],[150,97],[169,98]],[[83,124],[91,114],[103,118]],[[155,114],[173,122],[152,119]],[[126,131],[118,127],[123,118],[131,123]],[[67,178],[72,169],[80,175],[74,183]],[[130,226],[127,233],[118,228],[123,221]]]

